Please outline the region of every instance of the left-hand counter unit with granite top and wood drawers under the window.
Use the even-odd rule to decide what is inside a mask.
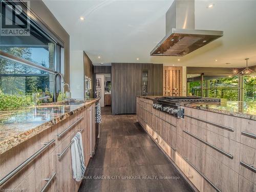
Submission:
[[[95,147],[98,99],[37,105],[0,112],[0,188],[77,191],[72,179],[72,138],[80,132],[85,164]],[[45,179],[50,179],[45,181]]]

